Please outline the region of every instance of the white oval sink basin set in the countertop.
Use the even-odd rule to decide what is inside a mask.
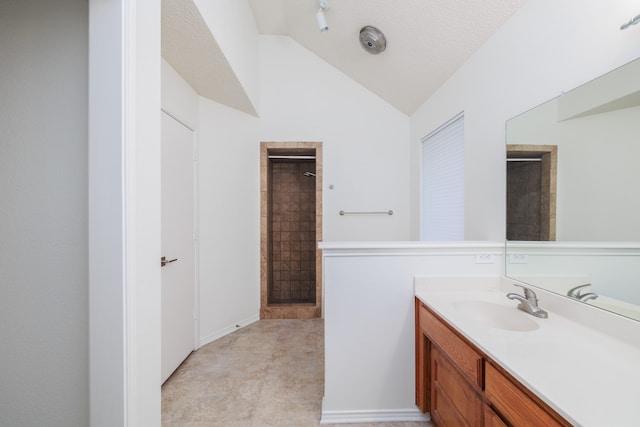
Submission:
[[[465,317],[489,328],[507,331],[534,331],[538,324],[515,306],[506,307],[486,301],[456,301],[453,306]]]

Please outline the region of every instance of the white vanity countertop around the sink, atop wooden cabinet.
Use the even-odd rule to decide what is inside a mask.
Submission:
[[[522,289],[495,277],[415,278],[415,295],[422,302],[572,424],[640,426],[640,348],[612,338],[607,331],[618,329],[616,322],[629,330],[629,320],[607,313],[614,318],[606,319],[598,329],[591,328],[580,322],[580,308],[565,311],[562,299],[536,290],[539,306],[549,312],[547,319],[539,319],[517,310],[517,301],[506,298],[508,292],[522,294]],[[491,327],[473,313],[456,308],[461,301],[511,308],[522,315],[518,320],[537,328]]]

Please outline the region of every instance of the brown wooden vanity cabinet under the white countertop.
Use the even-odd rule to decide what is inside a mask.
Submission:
[[[418,298],[416,405],[438,427],[571,426]]]

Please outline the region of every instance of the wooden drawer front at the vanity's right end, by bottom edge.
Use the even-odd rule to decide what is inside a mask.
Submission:
[[[523,427],[564,425],[489,363],[485,366],[484,381],[485,396],[511,424]]]

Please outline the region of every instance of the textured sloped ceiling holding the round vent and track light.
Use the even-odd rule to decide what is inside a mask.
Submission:
[[[261,34],[288,35],[400,111],[412,114],[526,0],[328,0],[329,31],[317,0],[249,0]],[[358,42],[379,28],[387,50]]]

